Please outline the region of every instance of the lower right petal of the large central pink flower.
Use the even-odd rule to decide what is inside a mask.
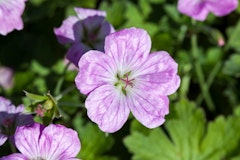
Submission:
[[[148,94],[139,90],[127,98],[132,114],[144,126],[155,128],[164,123],[164,117],[169,113],[167,96]]]

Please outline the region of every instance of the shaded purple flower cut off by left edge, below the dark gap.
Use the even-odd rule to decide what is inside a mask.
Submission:
[[[23,113],[24,106],[15,107],[11,101],[0,97],[0,146],[10,137],[13,140],[17,126],[23,126],[33,123],[31,115]]]

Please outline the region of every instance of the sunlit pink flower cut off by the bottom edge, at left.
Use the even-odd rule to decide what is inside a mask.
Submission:
[[[81,148],[77,132],[59,124],[45,127],[35,123],[18,127],[14,138],[21,153],[0,160],[76,160]]]

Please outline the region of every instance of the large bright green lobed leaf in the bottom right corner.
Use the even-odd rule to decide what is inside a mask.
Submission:
[[[231,158],[240,139],[239,114],[218,116],[207,123],[203,110],[193,102],[181,100],[172,108],[164,125],[166,131],[157,128],[146,134],[135,129],[125,138],[134,160]]]

